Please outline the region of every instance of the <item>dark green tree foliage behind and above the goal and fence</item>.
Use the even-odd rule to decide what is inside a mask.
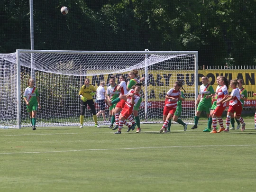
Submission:
[[[34,0],[35,49],[198,50],[199,65],[255,65],[256,1]],[[30,49],[29,3],[0,2],[0,53]],[[68,15],[60,8],[67,6]]]

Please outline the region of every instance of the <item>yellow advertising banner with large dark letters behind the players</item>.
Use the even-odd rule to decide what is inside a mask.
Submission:
[[[99,71],[99,73],[101,73]],[[145,72],[144,70],[139,71],[140,76],[144,77]],[[198,82],[199,86],[201,85],[201,77],[207,76],[210,80],[210,84],[213,86],[215,90],[217,87],[216,79],[219,75],[227,77],[229,80],[232,79],[242,79],[245,83],[244,88],[247,90],[248,93],[248,100],[254,100],[256,98],[252,97],[254,91],[256,91],[255,86],[255,74],[256,70],[199,70],[198,71]],[[110,76],[113,74],[105,74],[105,75],[95,75],[89,76],[91,79],[91,84],[94,85],[96,88],[100,85],[101,80],[106,82],[106,85],[109,82]],[[114,74],[116,75],[116,83],[119,83],[119,76],[125,75],[128,77],[128,73],[122,74]],[[150,70],[147,73],[147,95],[148,101],[165,101],[166,92],[169,89],[174,87],[174,82],[182,81],[183,88],[186,91],[185,97],[186,101],[194,101],[195,100],[195,88],[194,88],[194,78],[195,73],[194,71],[168,71],[168,70]],[[145,82],[143,82],[142,87],[142,97],[145,97]],[[231,93],[231,90],[229,90]]]

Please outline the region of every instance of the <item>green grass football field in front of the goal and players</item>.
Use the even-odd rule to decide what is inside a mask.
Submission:
[[[143,124],[113,134],[101,127],[0,129],[1,192],[252,192],[256,130],[204,133]]]

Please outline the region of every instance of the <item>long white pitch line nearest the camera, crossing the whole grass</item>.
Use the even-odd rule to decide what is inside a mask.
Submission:
[[[151,146],[151,147],[132,147],[132,148],[114,148],[114,149],[77,149],[77,150],[64,150],[64,151],[37,151],[37,152],[19,152],[19,153],[0,153],[0,155],[8,154],[40,154],[40,153],[64,153],[64,152],[77,152],[77,151],[108,151],[108,150],[131,150],[131,149],[158,149],[158,148],[175,148],[175,147],[216,147],[218,145],[210,146]],[[223,145],[221,145],[223,146]],[[256,146],[256,145],[224,145],[227,146]]]

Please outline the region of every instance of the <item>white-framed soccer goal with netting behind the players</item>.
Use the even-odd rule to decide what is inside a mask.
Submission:
[[[197,51],[17,50],[0,54],[0,128],[31,126],[23,100],[29,77],[35,79],[41,101],[37,126],[79,126],[78,92],[84,79],[89,78],[97,89],[101,80],[107,85],[110,76],[115,75],[119,83],[119,76],[128,77],[133,69],[139,71],[138,78],[145,77],[139,110],[141,123],[162,123],[165,95],[176,81],[182,81],[186,91],[181,119],[191,123],[198,90],[197,62]],[[105,113],[109,117],[107,106]],[[102,117],[98,122],[109,125]],[[89,108],[84,125],[94,125]]]

